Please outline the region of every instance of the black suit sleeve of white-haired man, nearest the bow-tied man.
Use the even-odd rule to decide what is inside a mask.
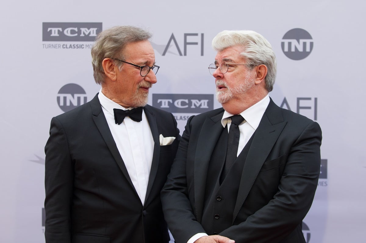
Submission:
[[[161,191],[161,202],[165,220],[177,243],[187,242],[193,235],[205,232],[193,213],[186,178],[186,157],[191,133],[191,116],[180,140],[168,180]]]

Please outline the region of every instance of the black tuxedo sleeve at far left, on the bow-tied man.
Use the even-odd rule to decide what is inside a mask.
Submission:
[[[46,243],[71,242],[71,200],[74,166],[66,133],[57,118],[52,118],[45,146],[45,239]]]

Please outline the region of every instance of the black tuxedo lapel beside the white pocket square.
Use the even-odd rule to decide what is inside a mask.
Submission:
[[[145,115],[147,117],[147,121],[149,122],[150,130],[154,140],[153,160],[150,168],[149,182],[147,183],[147,189],[146,189],[146,197],[145,197],[145,203],[146,203],[151,188],[153,187],[156,173],[158,171],[159,159],[160,159],[160,141],[159,141],[158,126],[156,124],[156,118],[154,113],[149,109],[149,106],[145,106],[143,110],[145,111]]]

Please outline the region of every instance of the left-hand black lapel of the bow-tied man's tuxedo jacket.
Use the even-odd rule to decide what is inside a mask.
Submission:
[[[111,151],[112,156],[116,160],[119,168],[123,172],[124,176],[126,176],[127,181],[130,183],[133,190],[135,190],[135,187],[132,184],[130,175],[128,175],[127,168],[124,165],[123,159],[118,151],[116,142],[113,139],[111,130],[109,130],[107,120],[105,119],[104,113],[102,111],[102,107],[101,107],[99,99],[98,99],[98,94],[90,101],[90,106],[91,106],[91,110],[93,113],[93,116],[92,116],[93,120],[94,120],[100,134],[102,135],[105,143],[107,144],[109,151]]]

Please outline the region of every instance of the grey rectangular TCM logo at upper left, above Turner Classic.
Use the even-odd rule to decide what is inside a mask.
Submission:
[[[42,23],[42,41],[94,41],[102,23]]]

